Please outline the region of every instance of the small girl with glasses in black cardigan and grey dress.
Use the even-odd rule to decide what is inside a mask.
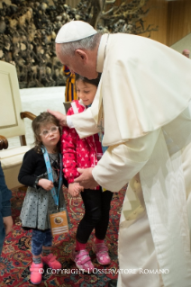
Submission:
[[[65,209],[66,204],[59,188],[59,121],[49,112],[41,112],[32,121],[32,130],[35,138],[35,147],[26,152],[23,157],[18,179],[21,184],[27,185],[27,193],[23,201],[21,220],[23,229],[32,229],[32,265],[31,282],[41,283],[42,264],[50,268],[60,269],[61,264],[50,252],[52,235],[50,230],[49,214],[54,213],[56,205],[51,194],[53,186],[59,189],[59,210]],[[48,179],[47,167],[42,150],[47,150],[53,183]],[[64,182],[66,184],[66,181]]]

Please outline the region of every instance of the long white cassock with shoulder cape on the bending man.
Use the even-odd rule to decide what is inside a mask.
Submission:
[[[129,182],[118,287],[190,287],[191,61],[154,40],[105,34],[96,70],[94,103],[70,119],[84,138],[104,117],[109,148],[93,176],[113,192]]]

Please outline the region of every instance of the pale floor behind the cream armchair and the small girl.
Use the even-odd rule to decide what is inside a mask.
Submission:
[[[32,112],[36,115],[47,111],[50,108],[53,111],[65,113],[63,106],[65,86],[30,88],[20,90],[23,112]],[[32,145],[32,121],[25,119],[26,141],[27,145]],[[20,146],[19,138],[9,139],[9,148]]]

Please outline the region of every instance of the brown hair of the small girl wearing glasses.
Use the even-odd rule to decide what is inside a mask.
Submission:
[[[41,154],[41,147],[43,146],[42,141],[41,141],[41,125],[46,125],[48,123],[53,123],[56,126],[59,127],[59,120],[53,116],[50,112],[41,112],[40,115],[38,115],[33,121],[32,121],[32,130],[34,133],[34,149],[38,154]],[[61,134],[61,128],[59,127],[59,134]],[[60,149],[60,143],[58,142],[57,144],[57,150],[59,151]]]

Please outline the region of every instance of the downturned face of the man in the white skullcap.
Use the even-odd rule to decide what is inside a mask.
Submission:
[[[60,45],[56,45],[57,56],[63,65],[68,66],[71,73],[77,73],[88,79],[95,79],[98,76],[96,72],[96,63],[87,59],[83,61],[77,54],[74,56],[65,56],[60,51]]]

